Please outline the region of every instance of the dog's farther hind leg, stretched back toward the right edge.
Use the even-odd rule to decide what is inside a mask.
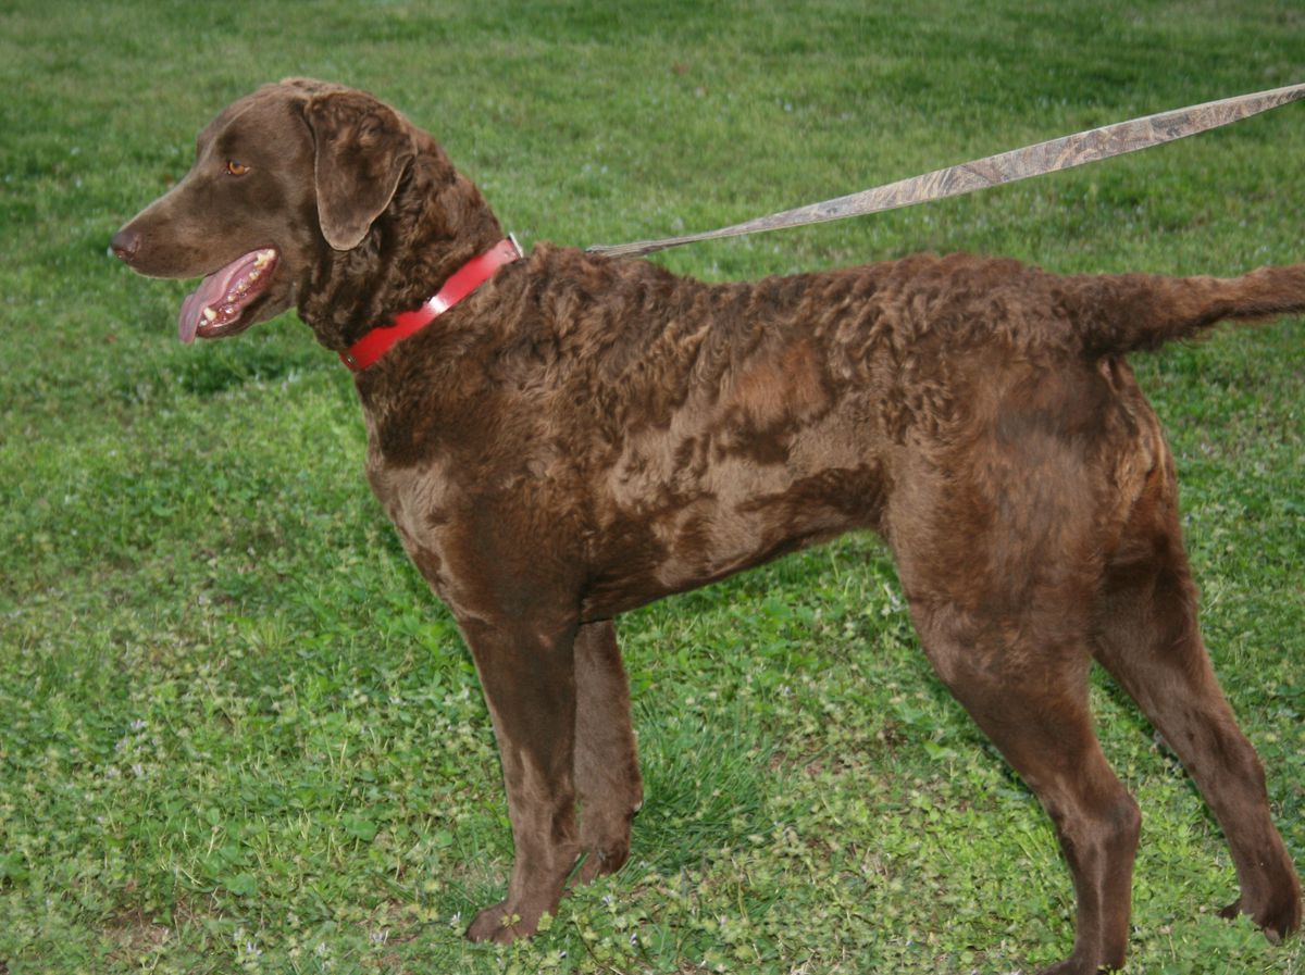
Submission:
[[[1172,461],[1135,503],[1098,607],[1096,658],[1188,768],[1232,849],[1249,914],[1276,941],[1301,924],[1301,886],[1270,819],[1265,772],[1237,727],[1197,626]]]

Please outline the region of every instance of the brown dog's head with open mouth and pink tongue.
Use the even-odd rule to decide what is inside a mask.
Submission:
[[[226,108],[194,166],[112,240],[133,270],[202,278],[177,319],[215,339],[294,308],[328,250],[356,248],[415,154],[412,129],[361,91],[305,78]]]

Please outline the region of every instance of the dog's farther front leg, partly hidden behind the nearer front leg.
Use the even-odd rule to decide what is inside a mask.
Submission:
[[[630,690],[612,620],[576,635],[576,787],[579,791],[582,884],[615,873],[630,855],[630,820],[643,782],[630,722]]]

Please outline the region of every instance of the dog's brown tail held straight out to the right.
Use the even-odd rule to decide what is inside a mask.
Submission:
[[[1062,280],[1062,306],[1092,358],[1190,339],[1225,318],[1305,313],[1305,265],[1262,267],[1241,278],[1121,274]]]

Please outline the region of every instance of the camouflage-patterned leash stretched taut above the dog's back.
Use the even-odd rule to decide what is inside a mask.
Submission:
[[[770,216],[758,216],[754,220],[736,223],[715,231],[688,233],[681,237],[663,237],[660,240],[639,240],[632,244],[594,245],[587,248],[587,250],[591,254],[607,254],[609,257],[639,257],[656,250],[666,250],[667,248],[677,248],[681,244],[694,244],[699,240],[739,237],[745,233],[761,233],[762,231],[778,231],[809,223],[842,220],[844,216],[876,214],[883,210],[897,210],[903,206],[924,203],[930,199],[958,197],[963,193],[974,193],[975,190],[998,186],[1004,182],[1027,180],[1030,176],[1070,169],[1075,166],[1109,159],[1114,155],[1159,146],[1164,142],[1184,138],[1185,136],[1194,136],[1198,132],[1241,121],[1251,115],[1267,112],[1270,108],[1276,108],[1301,98],[1305,98],[1305,85],[1289,85],[1267,91],[1255,91],[1249,95],[1224,98],[1218,102],[1206,102],[1198,106],[1189,106],[1188,108],[1176,108],[1169,112],[1130,119],[1129,121],[1114,123],[1099,129],[1077,132],[1073,136],[1062,136],[1048,142],[1013,149],[1007,153],[998,153],[997,155],[960,163],[959,166],[950,166],[946,169],[936,169],[923,176],[912,176],[846,197],[810,203],[796,210],[784,210]]]

